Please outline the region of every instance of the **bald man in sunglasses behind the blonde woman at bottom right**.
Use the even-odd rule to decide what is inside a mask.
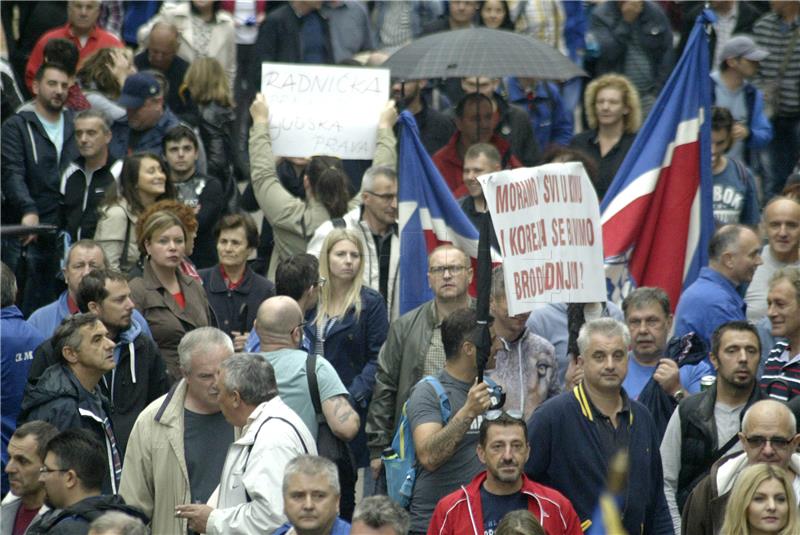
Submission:
[[[772,399],[754,403],[744,415],[738,436],[744,453],[731,454],[714,463],[711,472],[689,495],[683,509],[684,535],[720,534],[731,490],[742,470],[750,465],[780,466],[793,475],[795,491],[800,489],[800,434],[794,414],[786,405]],[[795,494],[800,501],[800,494]]]

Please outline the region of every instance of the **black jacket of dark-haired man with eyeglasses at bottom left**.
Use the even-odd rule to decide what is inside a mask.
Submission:
[[[89,524],[105,513],[117,511],[138,518],[145,524],[150,522],[138,508],[127,505],[122,496],[90,496],[66,509],[50,510],[28,528],[27,535],[86,535]]]

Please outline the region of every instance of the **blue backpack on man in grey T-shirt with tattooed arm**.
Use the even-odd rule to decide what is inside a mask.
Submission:
[[[450,400],[442,387],[442,383],[432,376],[426,375],[420,380],[428,382],[439,397],[439,408],[442,411],[442,422],[450,421]],[[419,384],[419,383],[417,383]],[[400,414],[400,423],[392,440],[391,451],[387,450],[381,456],[386,471],[386,494],[393,501],[408,508],[411,504],[411,495],[414,492],[414,483],[417,480],[417,455],[414,451],[414,440],[411,436],[411,424],[408,421],[408,401],[403,403]]]

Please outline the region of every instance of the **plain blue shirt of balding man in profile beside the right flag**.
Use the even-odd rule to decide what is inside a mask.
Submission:
[[[710,267],[681,295],[675,310],[675,336],[696,332],[711,347],[714,329],[733,320],[745,320],[747,305],[731,281]]]

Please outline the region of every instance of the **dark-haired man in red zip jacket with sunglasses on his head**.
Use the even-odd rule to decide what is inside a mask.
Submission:
[[[580,519],[569,500],[525,475],[531,452],[527,437],[524,420],[489,411],[481,423],[477,448],[486,471],[439,500],[428,535],[492,533],[506,513],[517,509],[533,513],[547,535],[581,535]]]

